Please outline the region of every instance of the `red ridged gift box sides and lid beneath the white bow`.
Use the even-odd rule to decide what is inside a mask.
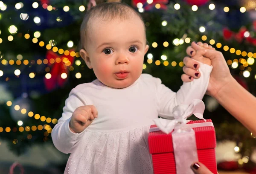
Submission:
[[[212,122],[211,119],[207,119],[206,121]],[[187,124],[203,122],[204,120],[197,120],[191,121]],[[150,128],[155,127],[157,126],[151,125]],[[198,161],[206,165],[206,167],[209,168],[213,174],[217,174],[215,158],[216,137],[214,127],[204,126],[192,129],[195,131]],[[152,154],[154,174],[176,174],[175,153],[172,144],[172,132],[166,134],[162,131],[154,131],[150,132],[148,135],[148,146],[149,152]]]

